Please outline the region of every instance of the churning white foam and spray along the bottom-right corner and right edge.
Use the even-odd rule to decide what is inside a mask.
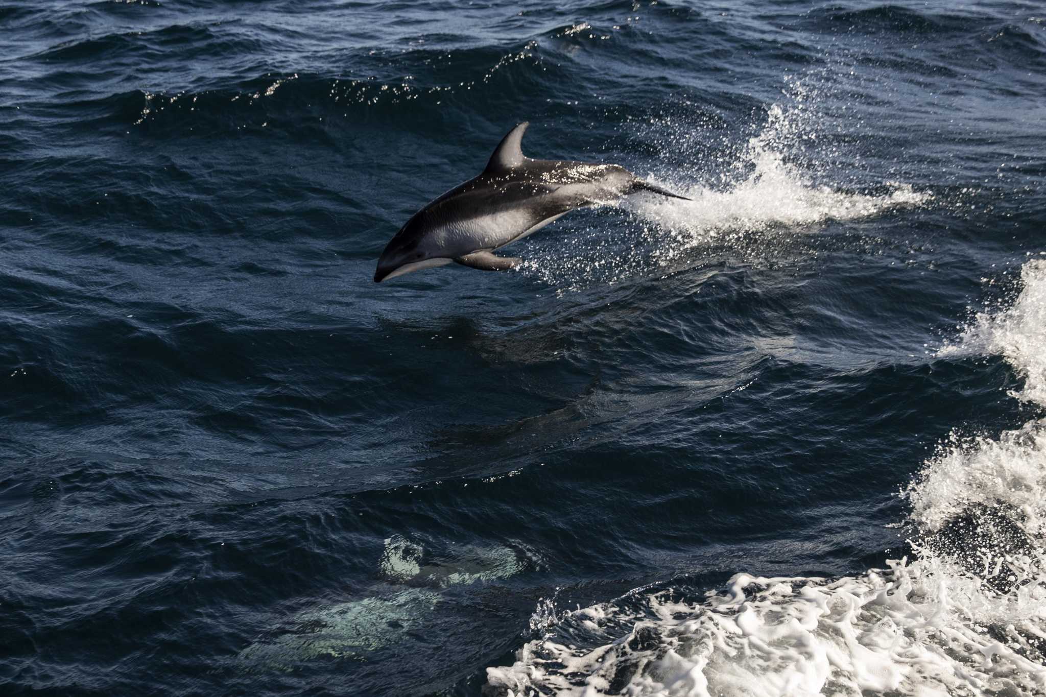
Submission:
[[[1046,262],[943,355],[996,353],[1046,406]],[[550,614],[504,695],[1041,695],[1046,691],[1046,419],[953,434],[904,492],[916,558],[828,581],[734,576]],[[701,597],[703,595],[703,597]],[[697,596],[695,598],[695,596]],[[678,600],[683,598],[684,600]]]

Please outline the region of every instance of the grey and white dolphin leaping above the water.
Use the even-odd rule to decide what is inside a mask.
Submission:
[[[531,160],[520,142],[528,123],[508,132],[486,169],[414,213],[378,259],[374,282],[457,263],[504,271],[520,262],[493,252],[582,206],[634,191],[686,199],[644,182],[616,164]]]

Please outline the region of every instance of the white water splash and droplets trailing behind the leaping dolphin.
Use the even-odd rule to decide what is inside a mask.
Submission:
[[[797,236],[817,232],[829,220],[857,220],[899,209],[918,208],[933,196],[910,184],[887,181],[873,190],[847,190],[817,183],[829,163],[803,155],[818,140],[823,122],[810,108],[816,93],[791,83],[790,106],[774,104],[758,135],[748,139],[729,159],[715,164],[706,181],[687,185],[676,176],[649,179],[692,201],[655,195],[632,196],[618,208],[630,219],[623,230],[608,237],[607,223],[571,233],[570,254],[562,246],[542,247],[528,255],[521,269],[542,280],[571,287],[584,281],[616,283],[629,277],[663,273],[680,260],[702,254],[764,258],[775,249],[794,247]],[[660,124],[669,134],[680,127]],[[655,136],[672,148],[685,138]],[[797,160],[805,164],[800,166]]]

